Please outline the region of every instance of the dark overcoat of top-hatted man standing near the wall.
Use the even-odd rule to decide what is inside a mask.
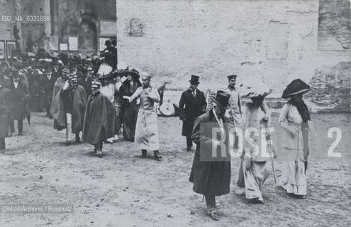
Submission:
[[[182,93],[179,101],[179,118],[183,121],[182,135],[190,137],[195,119],[206,111],[206,98],[204,92],[196,89],[196,95],[188,89]]]

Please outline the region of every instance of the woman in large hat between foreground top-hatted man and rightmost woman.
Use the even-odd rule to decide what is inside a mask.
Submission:
[[[260,81],[251,82],[247,87],[245,96],[252,102],[243,106],[243,119],[245,122],[245,131],[255,129],[258,135],[250,132],[250,138],[258,145],[255,150],[247,140],[243,143],[243,155],[241,156],[240,167],[238,171],[239,187],[245,187],[246,198],[256,203],[263,204],[262,184],[269,175],[268,160],[269,152],[273,151],[272,146],[265,146],[262,149],[261,132],[264,129],[264,138],[270,139],[269,124],[271,121],[270,111],[267,104],[264,103],[264,97],[272,93],[267,84]],[[245,132],[246,134],[246,132]]]

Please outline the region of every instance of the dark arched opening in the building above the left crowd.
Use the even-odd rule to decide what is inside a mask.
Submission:
[[[84,52],[88,55],[97,52],[96,25],[94,22],[87,19],[82,20],[79,24],[79,52]]]

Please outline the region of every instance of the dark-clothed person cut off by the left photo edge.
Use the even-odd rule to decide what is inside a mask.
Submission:
[[[5,137],[9,133],[10,90],[4,86],[4,74],[0,73],[0,150],[4,150]]]

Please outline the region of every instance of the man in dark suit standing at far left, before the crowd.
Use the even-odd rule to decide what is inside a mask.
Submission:
[[[11,91],[9,93],[11,111],[11,135],[15,131],[14,120],[17,120],[18,123],[18,135],[23,135],[23,119],[26,117],[28,89],[26,85],[23,85],[21,83],[18,70],[12,70],[11,84],[9,84],[8,89]]]

